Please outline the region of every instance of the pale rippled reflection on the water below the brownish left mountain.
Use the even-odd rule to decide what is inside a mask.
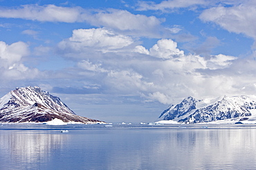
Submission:
[[[30,127],[23,130],[1,131],[0,160],[4,160],[4,164],[9,164],[7,169],[43,169],[39,164],[48,162],[51,154],[60,153],[70,139],[70,136],[59,131],[55,133],[47,129],[37,131],[26,128]],[[1,161],[1,167],[2,164]]]

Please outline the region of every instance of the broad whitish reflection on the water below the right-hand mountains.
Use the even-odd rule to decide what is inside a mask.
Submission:
[[[232,127],[165,131],[151,147],[149,162],[170,169],[255,169],[255,133]]]

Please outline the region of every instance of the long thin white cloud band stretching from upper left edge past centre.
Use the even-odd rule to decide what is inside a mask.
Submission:
[[[0,17],[26,19],[42,22],[86,22],[97,27],[107,27],[113,30],[137,36],[159,36],[163,30],[162,19],[143,14],[131,14],[127,10],[86,10],[80,7],[62,7],[53,4],[39,6],[24,5],[19,8],[0,8]],[[25,32],[28,33],[28,32]],[[29,32],[31,33],[31,32]]]

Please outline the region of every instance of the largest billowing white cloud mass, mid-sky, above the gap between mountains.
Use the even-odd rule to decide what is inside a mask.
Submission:
[[[84,82],[91,81],[113,94],[167,104],[180,96],[215,96],[240,90],[228,75],[237,62],[235,56],[185,54],[172,39],[160,39],[147,50],[133,45],[136,41],[130,36],[109,34],[106,28],[76,31],[59,43],[59,52],[68,51],[69,57],[78,59],[77,74]],[[113,43],[109,36],[120,43]],[[88,50],[92,56],[100,52],[100,57],[86,55]]]

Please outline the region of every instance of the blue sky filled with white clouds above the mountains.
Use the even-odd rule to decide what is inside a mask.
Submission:
[[[188,96],[254,95],[255,16],[253,0],[0,0],[0,96],[38,86],[140,123]]]

